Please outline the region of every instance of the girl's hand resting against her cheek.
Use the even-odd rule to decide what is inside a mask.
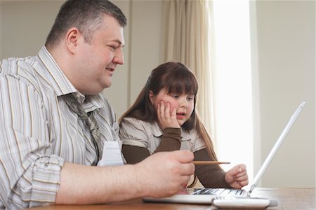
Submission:
[[[180,128],[180,125],[177,121],[176,108],[173,108],[172,111],[170,111],[170,109],[171,105],[169,102],[166,102],[165,104],[162,101],[160,102],[160,104],[157,104],[157,118],[160,127],[162,127],[162,130],[164,130],[166,127]]]

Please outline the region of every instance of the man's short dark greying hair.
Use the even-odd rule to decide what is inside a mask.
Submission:
[[[100,28],[104,15],[112,16],[125,27],[126,17],[114,3],[108,0],[68,0],[62,4],[47,38],[46,47],[59,43],[60,38],[72,27],[79,29],[84,40],[91,43],[93,34]]]

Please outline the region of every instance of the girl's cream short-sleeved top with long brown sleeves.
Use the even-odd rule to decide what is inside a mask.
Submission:
[[[192,151],[195,160],[213,160],[196,130],[166,128],[162,131],[157,123],[124,118],[119,137],[123,141],[122,153],[129,164],[140,162],[152,153],[177,150]],[[195,175],[205,188],[230,188],[225,172],[218,165],[197,165]]]

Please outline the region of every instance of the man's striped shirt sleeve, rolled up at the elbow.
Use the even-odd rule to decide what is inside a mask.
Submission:
[[[0,74],[0,209],[55,202],[64,161],[51,153],[46,109],[24,78]]]

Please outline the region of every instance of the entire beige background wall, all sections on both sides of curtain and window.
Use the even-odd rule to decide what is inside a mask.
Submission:
[[[63,1],[0,2],[0,57],[36,55]],[[117,68],[112,87],[105,90],[119,117],[160,62],[162,1],[114,3],[129,22],[124,29],[126,64]],[[299,102],[307,101],[262,186],[315,187],[315,2],[257,1],[254,8],[254,76],[259,92],[254,110],[260,140],[256,163],[268,155]],[[34,22],[37,27],[27,27]]]

